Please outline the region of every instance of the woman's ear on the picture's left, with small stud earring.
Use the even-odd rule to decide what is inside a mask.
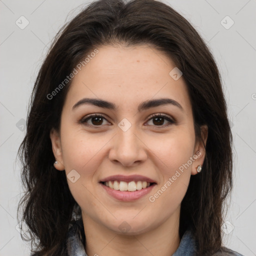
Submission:
[[[63,164],[63,156],[62,156],[62,148],[61,148],[61,143],[60,143],[60,135],[55,129],[50,130],[50,140],[51,140],[51,145],[52,145],[52,152],[55,156],[56,161],[58,163],[54,163],[54,167],[57,170],[64,170],[64,164]]]

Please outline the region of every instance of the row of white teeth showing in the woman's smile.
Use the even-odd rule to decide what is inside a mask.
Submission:
[[[142,188],[146,188],[150,185],[149,182],[146,181],[105,181],[104,185],[114,189],[114,190],[120,190],[120,191],[135,191],[140,190]]]

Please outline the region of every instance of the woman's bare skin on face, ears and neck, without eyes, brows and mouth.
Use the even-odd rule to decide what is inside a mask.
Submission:
[[[98,51],[72,80],[61,113],[60,131],[50,132],[52,150],[58,160],[54,166],[66,174],[75,169],[80,175],[76,182],[68,178],[67,182],[82,210],[88,256],[172,255],[180,242],[180,203],[190,175],[197,174],[196,167],[202,165],[205,156],[203,144],[195,139],[184,79],[181,76],[174,80],[169,72],[175,64],[148,45],[104,45]],[[108,100],[117,109],[84,104],[72,110],[83,97]],[[183,111],[171,104],[137,111],[140,102],[162,97],[176,100]],[[98,126],[95,119],[87,120],[94,127],[79,123],[82,117],[93,113],[106,119]],[[164,119],[164,123],[157,125],[148,118],[158,113],[169,115],[176,123]],[[118,127],[123,118],[131,123],[125,132]],[[207,127],[202,126],[201,130],[206,144]],[[198,151],[200,156],[150,202],[148,197]],[[114,174],[141,174],[157,185],[137,200],[120,201],[98,183]],[[123,221],[130,228],[126,233],[118,227]]]

